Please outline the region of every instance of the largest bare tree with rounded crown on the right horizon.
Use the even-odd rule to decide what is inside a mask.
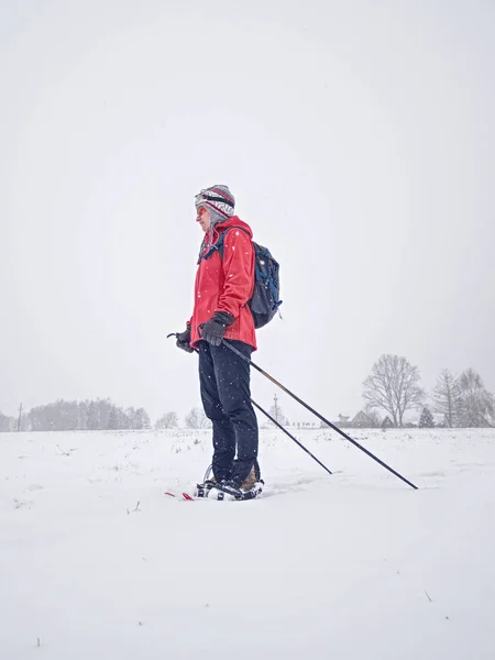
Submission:
[[[382,355],[363,383],[366,406],[385,410],[392,415],[394,426],[402,427],[404,414],[417,408],[425,397],[419,381],[418,367],[405,358]]]

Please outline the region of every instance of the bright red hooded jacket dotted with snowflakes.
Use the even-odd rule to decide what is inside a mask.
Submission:
[[[235,339],[256,349],[253,316],[248,300],[254,289],[253,232],[249,224],[232,216],[213,228],[213,243],[229,227],[242,227],[248,231],[231,229],[223,239],[223,258],[216,251],[209,258],[201,258],[196,274],[195,308],[190,318],[190,343],[198,345],[198,328],[216,311],[228,311],[234,322],[226,331],[226,339]]]

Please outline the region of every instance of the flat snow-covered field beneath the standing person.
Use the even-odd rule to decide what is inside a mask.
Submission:
[[[244,503],[164,495],[207,431],[0,435],[0,658],[493,660],[495,431],[354,437],[420,490],[322,430]]]

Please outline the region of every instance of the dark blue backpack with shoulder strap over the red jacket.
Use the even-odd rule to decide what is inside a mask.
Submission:
[[[223,240],[231,229],[240,229],[248,233],[242,227],[229,227],[223,231],[218,241],[208,250],[202,258],[210,256],[218,250],[220,258],[223,260]],[[252,241],[254,248],[254,290],[253,296],[248,300],[248,305],[253,315],[254,327],[256,330],[263,328],[273,319],[282,305],[279,299],[280,282],[278,278],[278,262],[272,256],[267,248],[258,245]]]

